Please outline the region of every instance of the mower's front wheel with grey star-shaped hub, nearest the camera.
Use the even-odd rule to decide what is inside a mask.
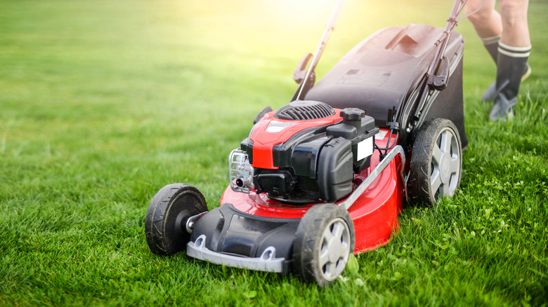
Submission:
[[[314,205],[299,222],[293,244],[294,274],[320,287],[344,271],[354,252],[354,224],[344,207]]]

